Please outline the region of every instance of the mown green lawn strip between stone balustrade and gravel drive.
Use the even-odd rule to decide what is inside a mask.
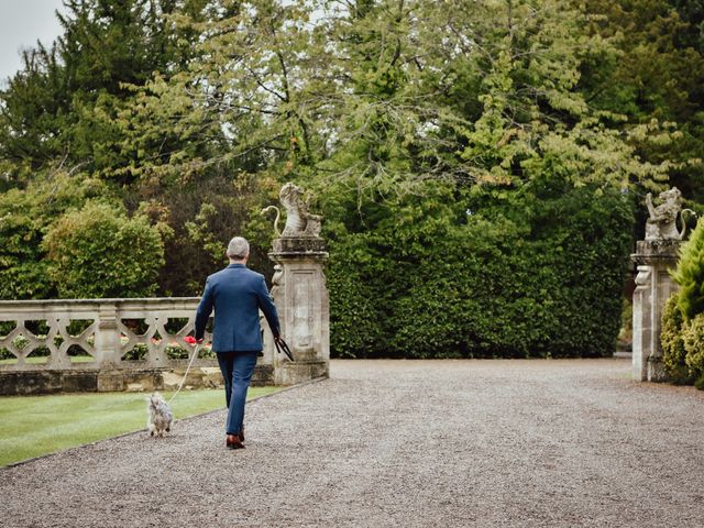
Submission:
[[[277,391],[251,387],[253,398]],[[166,400],[173,393],[163,393]],[[103,440],[146,431],[146,393],[90,393],[0,397],[0,466]],[[182,391],[176,419],[224,407],[222,389]]]

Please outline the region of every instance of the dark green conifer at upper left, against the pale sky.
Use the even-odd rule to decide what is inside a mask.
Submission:
[[[125,84],[144,82],[185,65],[189,38],[168,18],[177,9],[198,18],[206,0],[65,0],[64,33],[48,48],[24,53],[24,67],[0,94],[0,158],[20,183],[63,161],[100,177],[130,183],[116,125],[133,97]]]

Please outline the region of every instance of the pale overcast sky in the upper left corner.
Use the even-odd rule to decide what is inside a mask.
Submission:
[[[20,50],[50,44],[61,32],[62,0],[0,0],[0,82],[20,68]]]

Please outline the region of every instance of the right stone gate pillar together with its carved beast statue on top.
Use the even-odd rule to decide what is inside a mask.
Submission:
[[[646,197],[648,218],[646,240],[636,243],[636,253],[630,255],[638,266],[634,292],[634,380],[666,382],[662,364],[662,311],[666,301],[678,290],[670,276],[679,258],[684,228],[676,229],[681,218],[681,194],[676,187],[659,195],[660,205],[653,207],[650,194]],[[682,222],[684,223],[684,222]]]

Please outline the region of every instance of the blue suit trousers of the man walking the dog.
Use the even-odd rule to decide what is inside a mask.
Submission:
[[[226,432],[239,435],[244,425],[244,403],[256,365],[256,352],[218,352],[217,355],[228,404]]]

